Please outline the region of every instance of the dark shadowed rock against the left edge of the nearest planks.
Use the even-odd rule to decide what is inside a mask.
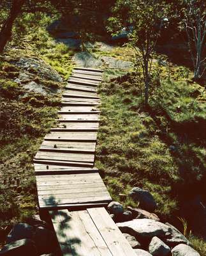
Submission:
[[[55,246],[55,234],[48,230],[48,228],[39,225],[35,230],[34,242],[38,253],[51,253]]]

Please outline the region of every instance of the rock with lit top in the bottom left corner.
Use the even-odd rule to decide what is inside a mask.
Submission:
[[[31,239],[20,239],[3,246],[0,251],[2,256],[38,256],[36,246]]]

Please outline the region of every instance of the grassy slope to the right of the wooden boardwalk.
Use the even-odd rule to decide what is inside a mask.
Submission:
[[[194,194],[191,187],[204,195],[203,88],[186,79],[168,81],[162,76],[145,109],[141,79],[133,73],[118,75],[115,70],[106,72],[105,83],[99,86],[96,166],[113,200],[135,207],[131,198],[121,194],[128,195],[135,186],[147,189],[158,203],[156,213],[161,220],[176,225],[182,204]],[[205,242],[194,235],[189,239],[205,255]]]

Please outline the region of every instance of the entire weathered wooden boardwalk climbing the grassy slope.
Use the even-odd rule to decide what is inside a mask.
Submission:
[[[112,199],[94,168],[101,77],[101,70],[73,70],[57,126],[34,157],[39,206],[50,213],[61,255],[135,256],[104,208]]]

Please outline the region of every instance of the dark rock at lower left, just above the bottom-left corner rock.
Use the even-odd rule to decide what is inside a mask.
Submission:
[[[19,223],[13,226],[6,238],[6,243],[11,243],[20,239],[32,239],[34,236],[34,228],[26,223]]]

